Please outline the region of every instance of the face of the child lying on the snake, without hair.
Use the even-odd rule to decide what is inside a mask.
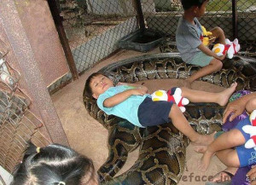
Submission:
[[[113,87],[113,81],[102,74],[91,79],[90,88],[95,99],[98,99],[99,95],[102,95],[110,87]]]

